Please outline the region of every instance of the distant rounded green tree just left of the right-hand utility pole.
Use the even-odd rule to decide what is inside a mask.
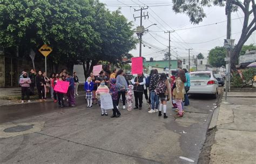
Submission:
[[[226,66],[225,63],[226,49],[225,47],[217,46],[210,50],[208,55],[209,63],[214,67]]]

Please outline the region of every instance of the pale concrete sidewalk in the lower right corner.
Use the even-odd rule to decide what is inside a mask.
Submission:
[[[210,163],[254,163],[256,93],[228,92],[220,104]],[[214,117],[212,122],[214,122]],[[212,124],[211,122],[211,124]]]

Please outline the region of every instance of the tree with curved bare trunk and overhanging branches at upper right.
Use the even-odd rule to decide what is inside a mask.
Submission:
[[[203,18],[206,17],[206,13],[204,12],[204,7],[209,7],[212,5],[220,5],[224,6],[224,0],[213,0],[213,1],[205,1],[205,0],[197,0],[197,1],[179,1],[173,0],[173,10],[176,13],[186,13],[188,17],[190,17],[190,21],[193,24],[199,24],[203,21]],[[252,33],[256,30],[256,5],[254,0],[229,0],[230,4],[226,5],[226,11],[237,11],[240,9],[244,12],[244,24],[242,26],[242,33],[235,45],[232,56],[231,56],[231,68],[233,71],[237,71],[235,68],[235,63],[238,60],[239,53],[242,49],[242,45],[245,44],[247,39],[252,35]],[[252,16],[252,20],[249,20],[249,17]]]

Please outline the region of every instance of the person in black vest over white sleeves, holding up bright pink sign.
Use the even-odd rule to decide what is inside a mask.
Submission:
[[[132,80],[132,84],[134,85],[134,98],[135,98],[135,107],[134,109],[142,110],[142,99],[144,92],[144,85],[146,84],[146,79],[143,73],[138,74],[134,80]]]

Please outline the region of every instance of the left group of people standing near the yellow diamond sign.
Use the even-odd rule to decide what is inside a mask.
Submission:
[[[35,95],[35,87],[37,87],[39,102],[47,101],[47,94],[50,92],[51,98],[57,103],[59,107],[64,107],[64,93],[54,91],[55,85],[58,81],[68,81],[70,83],[66,97],[69,106],[75,106],[75,95],[78,95],[78,77],[76,72],[73,73],[73,77],[70,73],[63,69],[60,73],[52,73],[50,78],[46,76],[46,72],[38,71],[36,73],[33,69],[30,73],[22,71],[19,77],[19,84],[22,87],[22,103],[24,103],[24,96],[26,95],[28,103],[30,103],[30,95]]]

